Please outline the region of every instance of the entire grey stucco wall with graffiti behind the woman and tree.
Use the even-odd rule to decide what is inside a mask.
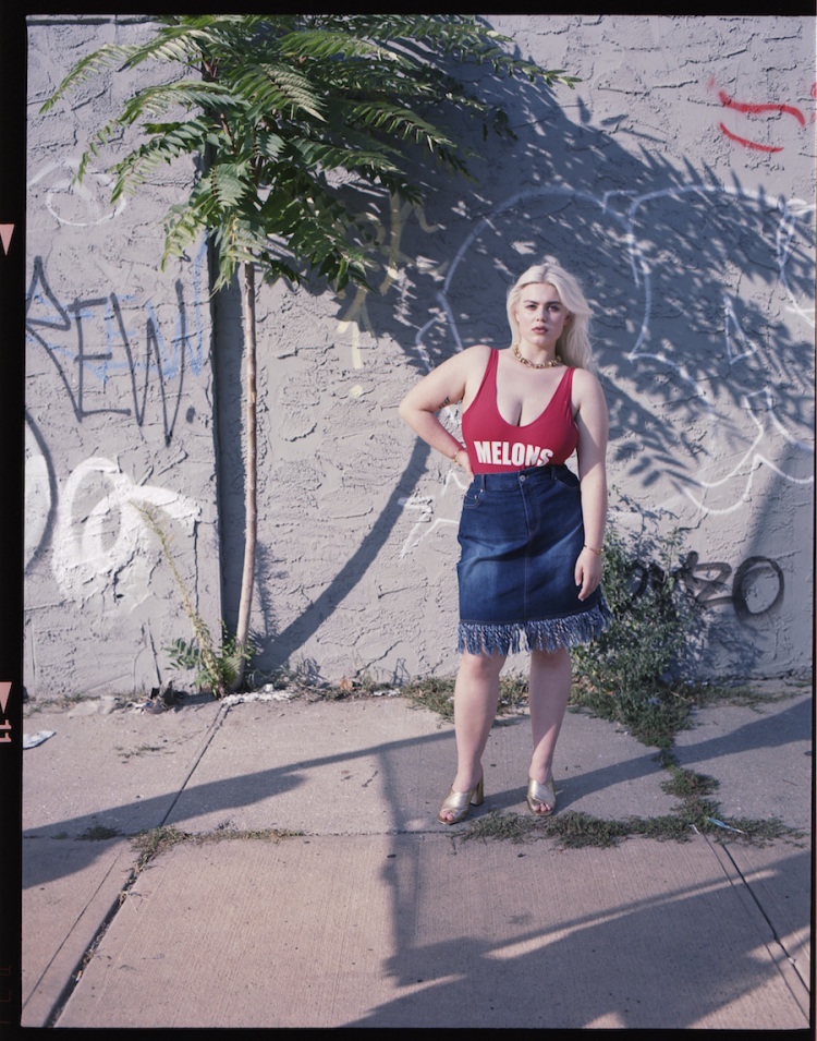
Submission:
[[[611,522],[633,540],[678,531],[670,568],[706,621],[697,676],[805,670],[815,20],[486,20],[582,82],[547,92],[471,70],[516,138],[475,135],[477,183],[436,174],[424,207],[385,202],[377,292],[258,291],[255,666],[381,682],[456,668],[462,473],[398,404],[454,351],[507,346],[508,288],[552,255],[594,306]],[[25,682],[45,700],[172,678],[167,647],[191,629],[139,507],[172,533],[214,633],[237,615],[240,300],[210,301],[204,252],[159,267],[191,171],[117,207],[101,165],[70,186],[90,131],[158,70],[39,114],[80,57],[147,28],[28,25]]]

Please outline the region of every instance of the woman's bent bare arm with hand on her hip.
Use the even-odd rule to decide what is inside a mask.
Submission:
[[[473,476],[468,453],[461,441],[440,423],[437,413],[446,405],[463,400],[468,382],[474,379],[475,373],[481,372],[478,368],[479,356],[486,350],[487,348],[472,347],[449,358],[412,387],[400,402],[401,420],[441,455],[449,459],[456,456],[456,464],[462,467],[468,476]],[[485,368],[484,364],[481,368]]]

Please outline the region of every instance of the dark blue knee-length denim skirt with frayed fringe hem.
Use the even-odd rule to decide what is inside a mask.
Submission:
[[[458,540],[460,651],[556,651],[587,643],[609,625],[600,588],[578,600],[582,498],[568,467],[477,474]]]

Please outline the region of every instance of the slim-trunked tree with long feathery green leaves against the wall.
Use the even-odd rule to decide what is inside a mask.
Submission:
[[[236,643],[247,647],[256,554],[255,276],[342,290],[367,287],[374,197],[422,202],[429,161],[468,177],[473,153],[447,129],[462,116],[510,133],[500,108],[470,95],[447,68],[489,63],[497,75],[576,82],[512,57],[510,40],[470,15],[184,15],[155,20],[145,44],[107,45],[82,59],[42,106],[88,77],[145,61],[178,69],[133,94],[96,132],[77,172],[137,122],[143,142],[111,169],[112,201],[162,164],[194,157],[187,198],[167,216],[162,267],[204,234],[212,292],[241,274],[245,344],[246,531]],[[432,113],[432,114],[429,114]],[[243,679],[242,674],[236,686]]]

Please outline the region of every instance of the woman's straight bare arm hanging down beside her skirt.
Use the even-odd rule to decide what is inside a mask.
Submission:
[[[582,485],[582,520],[585,547],[576,560],[580,600],[586,600],[600,584],[602,557],[596,550],[605,545],[607,523],[607,438],[609,419],[601,384],[584,368],[573,374],[573,402],[576,405],[578,480]]]

